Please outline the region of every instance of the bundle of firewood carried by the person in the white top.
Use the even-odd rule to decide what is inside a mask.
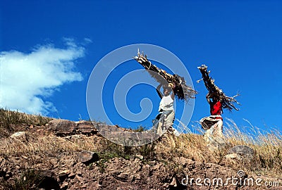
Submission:
[[[138,49],[137,56],[133,57],[138,63],[140,63],[149,74],[154,77],[157,82],[160,84],[164,84],[164,79],[168,84],[172,84],[174,86],[173,93],[180,100],[188,101],[189,99],[195,99],[195,94],[197,91],[192,89],[192,87],[188,86],[183,77],[179,75],[171,75],[165,70],[161,70],[157,68],[156,65],[153,65],[150,61],[148,61],[147,56],[144,53],[140,53]]]

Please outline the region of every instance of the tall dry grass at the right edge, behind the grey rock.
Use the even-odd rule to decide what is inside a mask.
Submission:
[[[226,130],[226,138],[231,146],[240,144],[250,146],[255,150],[255,160],[252,163],[252,170],[265,174],[281,176],[282,172],[282,134],[277,129],[264,132],[253,127],[239,127],[229,120],[231,124]]]

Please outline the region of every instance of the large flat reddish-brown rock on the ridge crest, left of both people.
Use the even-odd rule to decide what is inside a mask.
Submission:
[[[68,120],[51,120],[48,122],[47,128],[59,136],[73,134],[77,128],[75,122]]]

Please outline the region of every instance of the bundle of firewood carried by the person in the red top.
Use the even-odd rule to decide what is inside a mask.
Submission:
[[[240,105],[240,103],[238,103],[238,101],[235,100],[235,97],[239,96],[239,94],[236,94],[235,96],[232,96],[232,97],[226,96],[223,93],[223,91],[219,89],[219,87],[217,87],[216,84],[214,84],[214,80],[212,79],[212,77],[209,77],[210,71],[209,72],[207,71],[206,65],[202,65],[198,67],[198,69],[202,73],[202,80],[204,80],[204,85],[207,87],[207,90],[209,91],[209,93],[217,94],[218,96],[222,96],[222,108],[226,108],[230,111],[233,109],[238,110],[238,108],[235,108],[233,103],[237,103],[238,105]],[[200,80],[198,80],[197,82],[200,82]]]

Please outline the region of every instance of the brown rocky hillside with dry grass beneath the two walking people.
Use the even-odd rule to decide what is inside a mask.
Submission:
[[[214,150],[207,147],[202,135],[183,134],[144,146],[124,147],[104,139],[92,122],[1,112],[0,189],[282,186],[281,146],[276,144],[256,145],[228,137],[228,143]],[[262,153],[269,147],[272,160],[266,157],[269,152]]]

